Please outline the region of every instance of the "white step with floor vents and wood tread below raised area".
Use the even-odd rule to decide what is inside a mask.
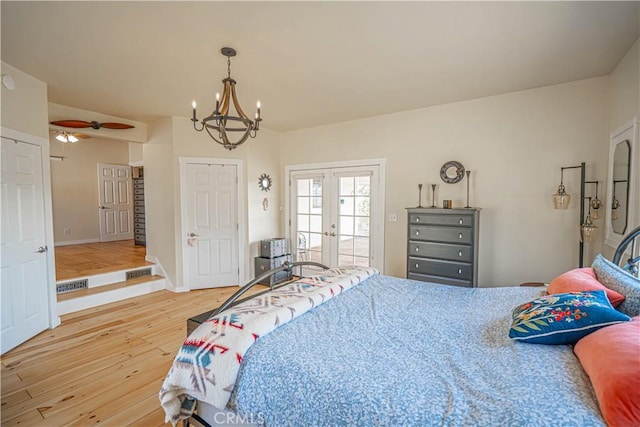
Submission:
[[[160,291],[165,285],[155,265],[61,280],[56,283],[58,315]]]

